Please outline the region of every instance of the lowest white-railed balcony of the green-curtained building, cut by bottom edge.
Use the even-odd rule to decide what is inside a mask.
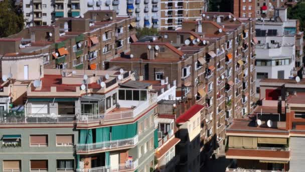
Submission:
[[[76,172],[105,172],[105,171],[134,171],[138,166],[138,159],[130,164],[118,164],[115,166],[100,166],[95,168],[76,169]]]

